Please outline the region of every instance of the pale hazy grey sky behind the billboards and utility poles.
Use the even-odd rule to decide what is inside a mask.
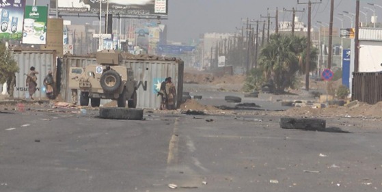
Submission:
[[[36,0],[38,5],[46,5],[48,0]],[[128,1],[128,0],[126,0]],[[309,0],[300,0],[300,3],[307,3]],[[319,2],[320,0],[311,0],[312,2]],[[368,21],[372,11],[364,7],[373,8],[367,3],[376,3],[382,5],[382,0],[360,0],[361,11],[368,14]],[[27,4],[31,5],[33,0],[27,0]],[[297,10],[305,12],[297,13],[297,16],[306,23],[308,20],[308,5],[297,5],[297,0],[169,0],[169,14],[168,20],[163,23],[168,25],[169,40],[188,42],[189,40],[199,38],[200,33],[206,32],[234,32],[236,27],[241,27],[246,18],[252,20],[264,20],[260,18],[267,16],[267,8],[271,16],[275,16],[276,7],[279,8],[279,21],[292,20],[291,12],[281,12],[283,8],[292,10],[297,6]],[[355,12],[355,0],[335,0],[335,16],[343,11]],[[376,8],[377,15],[382,12],[382,8]],[[323,0],[322,3],[312,5],[312,25],[318,25],[316,20],[324,23],[329,23],[330,13],[330,0]],[[364,14],[360,14],[361,21],[365,20]],[[340,18],[342,16],[339,16]],[[242,18],[244,19],[243,21]],[[70,18],[66,18],[70,19]],[[96,18],[75,18],[72,23],[79,24],[80,22],[90,22]],[[379,16],[382,21],[382,14]],[[274,20],[273,20],[274,23]],[[340,27],[339,19],[334,19],[335,27]],[[344,27],[350,27],[350,18],[344,17]],[[274,25],[272,26],[274,28]]]

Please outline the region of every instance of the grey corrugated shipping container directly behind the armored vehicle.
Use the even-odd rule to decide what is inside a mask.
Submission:
[[[61,95],[66,102],[71,102],[71,90],[68,85],[68,74],[70,67],[85,67],[90,64],[96,64],[95,57],[81,57],[65,55],[62,59],[61,75]],[[138,81],[137,90],[137,108],[158,109],[161,105],[160,97],[157,96],[159,87],[166,77],[172,77],[176,86],[177,105],[180,105],[183,92],[183,70],[184,64],[181,60],[155,60],[155,59],[123,59],[122,65],[132,68],[135,80]],[[101,102],[105,103],[105,102]]]

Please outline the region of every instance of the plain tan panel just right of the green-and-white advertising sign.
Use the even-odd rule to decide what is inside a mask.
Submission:
[[[64,20],[62,18],[48,18],[46,28],[46,45],[42,50],[56,50],[57,56],[62,57],[64,52]]]

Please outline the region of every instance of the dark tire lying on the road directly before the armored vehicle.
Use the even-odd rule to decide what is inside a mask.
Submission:
[[[143,120],[143,109],[100,107],[100,118],[113,120]]]

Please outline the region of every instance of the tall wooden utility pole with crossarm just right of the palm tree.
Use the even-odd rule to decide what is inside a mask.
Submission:
[[[322,0],[320,0],[319,3],[321,3]],[[307,38],[307,48],[306,48],[306,60],[305,60],[305,89],[309,91],[309,74],[310,74],[310,29],[312,25],[312,4],[316,4],[318,2],[308,1],[308,3],[300,3],[299,0],[297,0],[297,4],[308,4],[308,38]]]

